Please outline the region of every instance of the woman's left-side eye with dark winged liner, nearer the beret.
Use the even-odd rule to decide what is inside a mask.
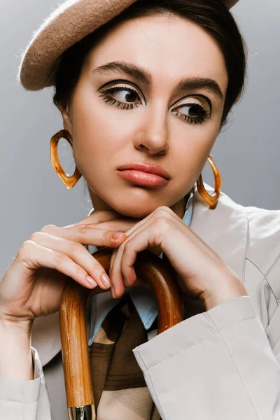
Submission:
[[[127,86],[116,86],[101,92],[99,97],[105,104],[120,107],[121,109],[134,109],[141,106],[139,93]],[[137,102],[137,99],[140,99]]]

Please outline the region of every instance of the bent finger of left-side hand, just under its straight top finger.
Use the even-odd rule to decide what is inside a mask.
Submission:
[[[111,287],[111,280],[106,274],[104,267],[97,262],[83,245],[68,239],[53,237],[43,232],[34,233],[30,239],[36,244],[67,255],[77,265],[85,269],[85,272],[96,282],[96,286],[98,285],[104,290]]]

